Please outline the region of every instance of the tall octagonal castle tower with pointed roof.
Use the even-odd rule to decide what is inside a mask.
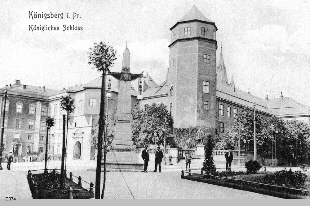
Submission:
[[[215,23],[196,6],[171,30],[168,110],[174,127],[218,127]],[[171,90],[172,88],[172,90]]]

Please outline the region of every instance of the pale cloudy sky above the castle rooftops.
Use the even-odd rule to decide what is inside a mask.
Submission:
[[[215,22],[217,59],[222,45],[236,87],[261,98],[282,91],[310,105],[309,1],[2,1],[0,87],[15,79],[57,90],[86,84],[100,76],[87,55],[100,41],[117,50],[111,71],[121,71],[127,42],[131,72],[148,72],[160,84],[169,67],[169,28],[193,5]],[[64,18],[32,19],[32,11]],[[59,30],[29,31],[31,25]],[[83,30],[63,31],[63,25]]]

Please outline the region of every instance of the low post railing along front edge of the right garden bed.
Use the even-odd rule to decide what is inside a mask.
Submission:
[[[217,168],[219,169],[219,168]],[[201,170],[201,169],[192,169],[192,170]],[[296,195],[298,192],[308,192],[310,193],[309,190],[303,190],[303,189],[296,189],[296,188],[291,188],[291,187],[286,187],[285,184],[282,184],[282,186],[277,186],[277,185],[269,185],[269,184],[264,184],[264,183],[259,183],[259,182],[251,182],[251,181],[247,181],[247,180],[243,180],[242,178],[240,179],[233,179],[233,178],[228,178],[228,177],[219,177],[219,176],[215,176],[210,174],[203,174],[202,170],[201,173],[193,173],[191,169],[189,170],[182,170],[181,171],[181,178],[184,179],[184,173],[187,173],[188,176],[191,176],[193,174],[197,175],[197,177],[203,177],[206,178],[208,181],[210,181],[212,178],[215,179],[224,179],[227,182],[232,182],[235,183],[237,185],[239,185],[240,188],[242,188],[243,186],[260,186],[263,187],[264,189],[270,191],[275,191],[275,192],[281,192],[281,193],[288,193],[288,194],[293,194]]]

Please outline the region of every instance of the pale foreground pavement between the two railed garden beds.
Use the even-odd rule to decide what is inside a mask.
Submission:
[[[95,183],[95,172],[72,171]],[[106,173],[104,198],[117,199],[269,199],[272,196],[181,179],[181,172]],[[101,184],[103,173],[101,173]],[[100,186],[102,189],[102,185]]]

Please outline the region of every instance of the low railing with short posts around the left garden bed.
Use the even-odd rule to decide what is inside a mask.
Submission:
[[[58,169],[58,170],[59,170],[59,169]],[[32,174],[32,172],[36,172],[36,171],[44,171],[44,170],[28,170],[28,175],[27,175],[27,178],[28,178],[28,181],[29,181],[29,186],[30,186],[30,188],[32,188],[32,190],[33,190],[33,192],[34,192],[34,198],[37,198],[37,197],[38,197],[38,194],[39,194],[39,191],[38,191],[38,184],[37,184],[37,182],[34,181],[34,177],[33,177],[33,174]],[[55,175],[55,174],[56,174],[56,169],[50,170],[50,172],[52,172],[53,175]],[[65,175],[66,177],[67,177],[67,173],[69,173],[69,172],[67,172],[66,170],[64,170],[64,175]],[[89,190],[89,193],[94,194],[95,185],[94,185],[93,182],[88,183],[88,182],[82,180],[82,177],[81,177],[81,176],[79,176],[79,177],[74,176],[74,175],[72,174],[72,172],[70,172],[69,175],[70,175],[70,178],[69,178],[69,179],[70,179],[71,181],[73,181],[73,177],[75,177],[75,178],[78,179],[78,186],[82,187],[82,181],[83,181],[83,182],[85,182],[86,184],[89,185],[89,188],[81,188],[81,189],[74,189],[74,190],[73,190],[72,187],[69,187],[68,190],[56,190],[56,189],[55,189],[55,190],[53,190],[53,189],[50,189],[50,190],[42,190],[42,189],[40,189],[40,191],[44,191],[44,192],[49,192],[49,191],[68,192],[68,199],[73,199],[73,195],[72,195],[73,191]]]

